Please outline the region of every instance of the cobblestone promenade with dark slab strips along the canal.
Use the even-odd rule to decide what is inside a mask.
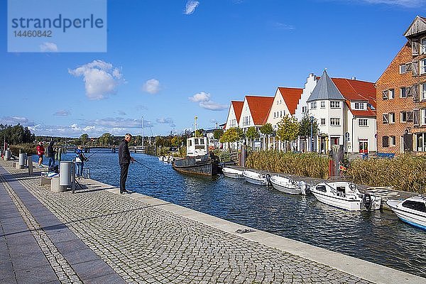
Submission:
[[[0,165],[0,283],[371,283],[91,180],[53,193]]]

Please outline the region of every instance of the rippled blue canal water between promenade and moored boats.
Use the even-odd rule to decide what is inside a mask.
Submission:
[[[144,166],[131,165],[129,190],[426,277],[426,231],[401,222],[393,212],[349,212],[322,204],[313,195],[286,195],[223,175],[182,175],[155,156],[131,155]],[[62,160],[72,158],[67,154]],[[84,166],[94,180],[119,187],[116,153],[95,153]]]

